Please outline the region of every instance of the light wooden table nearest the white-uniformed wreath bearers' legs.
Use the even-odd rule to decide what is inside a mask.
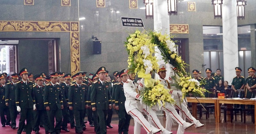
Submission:
[[[201,102],[201,103],[214,103],[214,106],[215,106],[214,107],[214,109],[215,109],[215,112],[214,112],[214,114],[215,114],[215,122],[218,123],[218,120],[217,120],[218,109],[216,108],[216,106],[217,106],[217,98],[197,98],[197,100],[196,100],[195,97],[186,97],[186,98],[187,98],[188,102],[192,102],[192,115],[195,118],[197,118],[197,103],[198,103],[197,100],[199,100],[199,102]]]

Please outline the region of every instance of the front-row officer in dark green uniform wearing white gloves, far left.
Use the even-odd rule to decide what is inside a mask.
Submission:
[[[28,81],[27,68],[23,68],[19,72],[19,76],[22,78],[21,81],[17,82],[15,86],[15,100],[17,111],[20,112],[20,122],[18,134],[21,134],[25,120],[26,133],[30,134],[32,131],[32,118],[33,110],[36,109],[35,94],[33,92],[33,82]]]

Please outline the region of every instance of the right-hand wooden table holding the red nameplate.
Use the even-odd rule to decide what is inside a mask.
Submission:
[[[215,108],[217,106],[217,122],[220,122],[220,105],[221,103],[225,104],[244,104],[244,105],[254,105],[254,108],[256,108],[256,100],[234,100],[234,99],[217,99],[217,105],[215,105]],[[254,110],[254,115],[256,115],[256,110]],[[216,119],[216,118],[215,118]],[[254,119],[256,121],[256,116],[254,116]],[[216,120],[215,120],[216,121]],[[254,124],[256,126],[256,123]]]

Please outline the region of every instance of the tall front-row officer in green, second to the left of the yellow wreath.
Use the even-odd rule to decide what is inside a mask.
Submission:
[[[99,75],[99,80],[93,82],[91,93],[92,111],[97,111],[99,116],[100,133],[106,134],[105,120],[108,114],[108,109],[111,109],[111,96],[109,92],[109,85],[105,81],[105,67],[100,67],[96,72]],[[97,133],[97,132],[96,132]]]

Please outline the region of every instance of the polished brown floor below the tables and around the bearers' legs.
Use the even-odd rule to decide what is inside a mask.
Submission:
[[[197,114],[199,118],[199,114]],[[163,126],[165,126],[166,118],[164,116],[158,116],[160,122]],[[199,119],[201,123],[204,124],[204,127],[195,128],[190,127],[185,130],[185,132],[192,132],[192,133],[205,133],[205,134],[254,134],[255,133],[255,125],[252,123],[251,115],[246,115],[246,123],[244,123],[244,116],[243,122],[241,122],[241,115],[237,115],[237,121],[233,120],[233,123],[230,121],[224,122],[224,114],[221,114],[221,123],[215,123],[214,114],[210,114],[210,118],[206,120],[205,114]],[[118,116],[113,115],[112,122],[114,124],[118,124]],[[134,125],[133,119],[131,120],[130,125]],[[172,125],[172,130],[177,131],[178,123]],[[256,134],[256,133],[255,133]]]

